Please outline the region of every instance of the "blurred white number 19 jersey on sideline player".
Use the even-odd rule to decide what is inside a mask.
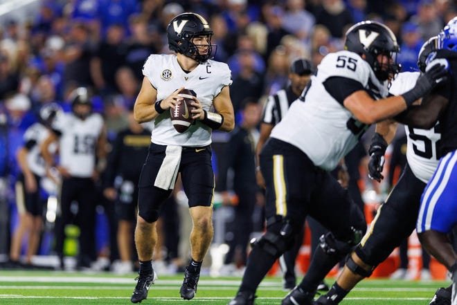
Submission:
[[[62,134],[59,139],[60,165],[73,177],[89,178],[96,166],[97,140],[102,133],[103,118],[92,113],[81,120],[73,113],[60,113],[53,129]]]

